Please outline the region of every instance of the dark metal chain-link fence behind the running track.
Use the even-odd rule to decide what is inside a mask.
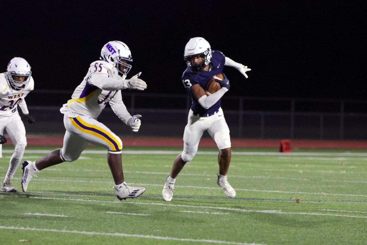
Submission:
[[[26,125],[27,132],[63,133],[63,115],[59,108],[70,98],[72,92],[32,92],[26,100],[29,111],[37,118],[37,123]],[[123,92],[122,95],[130,114],[142,115],[139,136],[182,137],[190,108],[188,96],[145,92]],[[366,140],[366,105],[366,100],[239,96],[222,98],[222,108],[232,138]],[[116,134],[132,134],[130,128],[121,123],[109,107],[103,110],[98,120]],[[204,137],[208,137],[208,134]]]

